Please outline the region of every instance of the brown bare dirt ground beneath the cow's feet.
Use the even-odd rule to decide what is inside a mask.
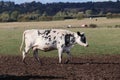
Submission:
[[[120,80],[120,55],[84,55],[69,64],[58,64],[57,58],[41,60],[42,65],[27,57],[25,65],[21,56],[0,56],[0,80]]]

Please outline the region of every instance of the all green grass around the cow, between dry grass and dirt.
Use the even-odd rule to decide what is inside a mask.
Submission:
[[[74,56],[81,54],[120,54],[120,29],[96,28],[96,29],[70,29],[72,31],[84,31],[89,47],[75,45],[71,52]],[[0,29],[0,54],[21,55],[19,47],[22,39],[22,28]],[[40,55],[57,56],[57,50],[50,52],[39,51]]]

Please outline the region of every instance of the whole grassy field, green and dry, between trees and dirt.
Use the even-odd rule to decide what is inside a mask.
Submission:
[[[80,28],[82,24],[95,24],[97,28]],[[72,25],[72,28],[67,28]],[[89,54],[120,54],[120,19],[96,18],[83,20],[41,21],[41,22],[11,22],[0,23],[0,54],[21,55],[22,33],[26,29],[67,29],[85,32],[89,47],[75,45],[71,53],[74,56]],[[31,52],[30,52],[31,53]],[[57,50],[39,51],[41,56],[57,56]],[[31,54],[32,55],[32,54]]]

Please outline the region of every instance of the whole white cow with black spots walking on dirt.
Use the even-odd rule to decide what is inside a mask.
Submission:
[[[30,29],[23,32],[23,38],[20,50],[23,45],[24,50],[22,51],[22,61],[25,63],[26,54],[30,49],[33,50],[35,59],[40,62],[38,57],[38,50],[51,51],[58,50],[59,63],[62,62],[62,54],[67,53],[69,62],[71,53],[70,49],[74,44],[88,47],[86,36],[82,32],[72,32],[63,29]]]

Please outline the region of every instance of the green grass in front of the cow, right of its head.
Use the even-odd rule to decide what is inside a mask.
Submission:
[[[73,53],[78,54],[120,54],[120,29],[101,28],[101,29],[84,29],[86,32],[89,47],[73,48]]]

